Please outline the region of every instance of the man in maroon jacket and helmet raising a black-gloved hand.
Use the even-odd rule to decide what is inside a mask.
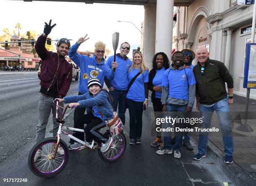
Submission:
[[[38,37],[35,45],[36,52],[43,61],[40,73],[41,89],[39,92],[41,96],[38,104],[36,143],[44,139],[51,111],[53,115],[53,136],[56,136],[59,124],[56,122],[56,105],[53,105],[53,100],[66,96],[72,82],[72,66],[65,60],[70,48],[69,40],[66,38],[60,39],[57,42],[57,52],[49,52],[45,48],[46,37],[55,25],[51,26],[51,20],[49,25],[45,22],[44,33]]]

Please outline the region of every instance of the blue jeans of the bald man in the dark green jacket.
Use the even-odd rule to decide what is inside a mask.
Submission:
[[[228,98],[224,98],[218,101],[212,107],[205,107],[200,104],[200,117],[203,118],[200,128],[209,129],[212,114],[216,112],[220,122],[220,128],[222,132],[222,139],[224,144],[224,153],[228,156],[233,156],[234,146],[233,146],[233,135],[232,126],[229,119],[229,107]],[[198,143],[198,153],[207,153],[207,142],[208,142],[208,132],[199,133],[199,143]]]

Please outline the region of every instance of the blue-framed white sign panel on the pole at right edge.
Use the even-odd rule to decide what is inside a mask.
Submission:
[[[243,88],[256,89],[256,43],[246,44]]]

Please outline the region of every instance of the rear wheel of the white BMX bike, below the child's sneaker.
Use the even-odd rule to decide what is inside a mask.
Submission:
[[[108,151],[101,152],[98,149],[100,159],[105,162],[112,163],[117,161],[124,153],[126,149],[126,138],[123,133],[120,133],[116,138],[113,139],[112,146],[109,147]]]

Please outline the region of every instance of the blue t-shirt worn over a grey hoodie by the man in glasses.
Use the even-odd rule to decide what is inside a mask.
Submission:
[[[168,97],[188,100],[188,88],[193,84],[196,80],[192,69],[167,69],[164,72],[162,86],[169,87]]]

